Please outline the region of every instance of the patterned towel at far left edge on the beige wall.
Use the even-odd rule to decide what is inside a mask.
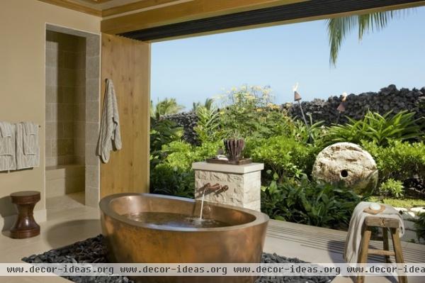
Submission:
[[[0,171],[16,170],[15,126],[0,122]]]

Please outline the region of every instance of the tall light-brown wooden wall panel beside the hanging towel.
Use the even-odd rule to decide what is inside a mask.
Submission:
[[[150,44],[102,34],[102,106],[105,80],[118,100],[123,148],[101,164],[101,196],[149,192]]]

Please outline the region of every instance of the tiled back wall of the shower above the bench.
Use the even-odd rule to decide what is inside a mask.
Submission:
[[[86,38],[46,33],[46,166],[85,162]]]

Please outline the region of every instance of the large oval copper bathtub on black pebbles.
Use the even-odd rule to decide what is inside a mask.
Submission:
[[[112,262],[260,262],[268,216],[205,202],[203,216],[231,226],[177,228],[134,221],[140,212],[199,216],[200,201],[157,194],[113,194],[100,202],[103,235]],[[137,282],[254,282],[255,277],[136,277]]]

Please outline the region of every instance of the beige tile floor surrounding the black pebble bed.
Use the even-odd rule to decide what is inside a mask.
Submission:
[[[21,262],[21,257],[60,248],[101,233],[99,211],[82,204],[84,195],[71,194],[47,199],[47,221],[40,223],[41,233],[25,240],[0,235],[0,262]],[[264,251],[286,257],[299,257],[309,262],[343,262],[341,241],[346,233],[325,228],[271,221]],[[425,245],[403,243],[407,261],[424,262]],[[409,283],[424,282],[424,277],[409,277]],[[61,277],[0,277],[1,283],[61,283]],[[334,283],[353,282],[337,277]],[[366,283],[395,282],[394,278],[368,277]]]

